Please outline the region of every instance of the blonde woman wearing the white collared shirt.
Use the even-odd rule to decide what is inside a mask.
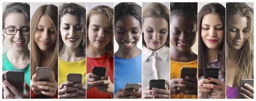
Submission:
[[[143,98],[170,98],[169,16],[169,8],[162,3],[151,3],[143,9]],[[149,90],[151,79],[165,79],[166,88]]]

